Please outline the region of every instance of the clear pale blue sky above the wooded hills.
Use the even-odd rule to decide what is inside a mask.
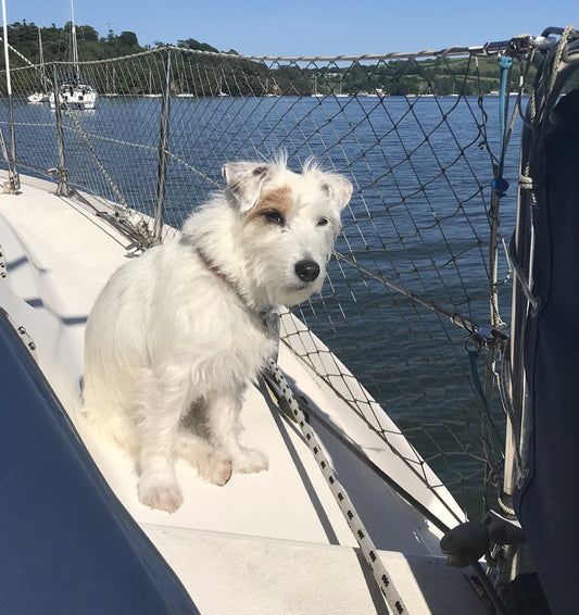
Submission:
[[[70,0],[7,0],[8,23],[62,27]],[[579,27],[579,0],[75,0],[76,23],[141,45],[194,38],[256,55],[443,49]]]

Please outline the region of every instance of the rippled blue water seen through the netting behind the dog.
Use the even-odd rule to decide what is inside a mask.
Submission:
[[[160,109],[161,99],[101,97],[96,111],[77,113],[76,122],[64,117],[72,181],[116,200],[102,164],[126,202],[151,214]],[[475,97],[174,99],[171,111],[166,213],[174,225],[221,181],[228,160],[282,149],[292,166],[315,154],[352,179],[337,250],[354,264],[333,262],[323,297],[298,311],[473,509],[483,455],[467,353],[475,349],[463,329],[376,278],[475,323],[489,322],[489,185],[500,153],[499,99],[484,98],[483,110]],[[5,120],[4,106],[2,113]],[[54,113],[16,101],[15,118],[18,159],[39,172],[56,166]],[[517,126],[505,160],[512,184],[501,201],[505,238],[515,218]],[[502,258],[499,276],[507,274]],[[508,321],[507,285],[501,294]]]

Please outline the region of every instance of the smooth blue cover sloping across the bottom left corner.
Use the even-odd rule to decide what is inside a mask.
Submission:
[[[198,613],[0,311],[0,612]]]

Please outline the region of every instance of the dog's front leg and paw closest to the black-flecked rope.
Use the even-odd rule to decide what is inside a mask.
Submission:
[[[210,437],[216,449],[223,449],[229,455],[234,472],[251,474],[267,469],[267,459],[254,449],[242,447],[239,434],[242,430],[239,421],[242,389],[231,393],[213,393],[207,398],[206,415]]]

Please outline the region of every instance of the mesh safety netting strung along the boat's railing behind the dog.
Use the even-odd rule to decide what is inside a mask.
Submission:
[[[496,357],[516,204],[502,180],[517,181],[518,109],[538,58],[526,39],[355,58],[168,46],[42,65],[13,53],[16,164],[91,194],[130,229],[134,250],[179,228],[228,161],[282,151],[295,171],[315,156],[345,175],[354,193],[328,279],[294,309],[327,349],[292,344],[298,332],[284,341],[315,369],[314,353],[336,353],[364,387],[353,409],[388,441],[376,399],[476,515],[502,480]],[[51,91],[53,104],[28,101]],[[323,363],[328,381],[345,378]]]

